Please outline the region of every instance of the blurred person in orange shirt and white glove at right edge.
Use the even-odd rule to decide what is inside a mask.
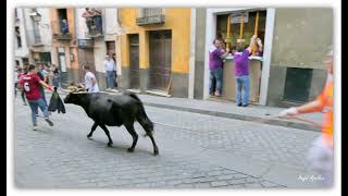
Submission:
[[[300,113],[324,112],[322,134],[314,140],[309,150],[308,161],[311,169],[322,175],[323,185],[331,186],[333,183],[334,169],[334,145],[333,145],[333,122],[334,122],[334,81],[333,81],[333,52],[327,53],[324,62],[327,65],[327,81],[323,91],[314,101],[300,107],[289,108],[281,112],[281,117],[296,115]]]

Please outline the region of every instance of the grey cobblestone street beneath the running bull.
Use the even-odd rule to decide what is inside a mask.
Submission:
[[[64,97],[64,96],[62,96]],[[49,96],[47,96],[49,100]],[[156,123],[160,155],[138,123],[132,137],[122,127],[109,127],[113,147],[100,127],[87,139],[92,121],[85,111],[65,105],[52,113],[54,126],[42,118],[32,131],[30,110],[15,100],[15,182],[18,187],[107,188],[269,188],[313,187],[298,175],[306,152],[319,132],[146,107]],[[41,115],[41,113],[40,113]]]

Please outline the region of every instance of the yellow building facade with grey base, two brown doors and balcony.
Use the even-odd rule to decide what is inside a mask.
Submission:
[[[120,9],[121,87],[188,97],[191,9]]]

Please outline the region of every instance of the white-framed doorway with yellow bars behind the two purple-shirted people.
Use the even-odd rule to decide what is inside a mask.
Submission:
[[[226,47],[237,45],[249,46],[252,35],[257,35],[263,44],[263,52],[257,56],[254,52],[249,57],[251,103],[265,105],[268,77],[270,72],[271,47],[273,37],[274,9],[208,9],[206,51],[214,38],[227,40]],[[228,41],[229,40],[229,41]],[[254,48],[252,48],[254,51]],[[203,98],[209,96],[209,53],[204,60],[204,91]],[[228,56],[223,68],[223,95],[225,100],[235,100],[234,60]]]

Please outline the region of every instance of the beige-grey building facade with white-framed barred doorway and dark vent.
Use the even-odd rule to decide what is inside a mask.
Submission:
[[[238,22],[241,15],[247,15],[244,25]],[[195,91],[203,91],[203,99],[210,98],[208,50],[212,40],[222,36],[234,45],[237,38],[243,38],[248,45],[256,33],[263,41],[263,56],[249,58],[251,102],[297,106],[312,100],[322,89],[326,79],[322,60],[333,44],[332,9],[208,9],[206,24],[204,85],[195,85],[198,88]],[[234,100],[233,58],[226,61],[223,98]]]

